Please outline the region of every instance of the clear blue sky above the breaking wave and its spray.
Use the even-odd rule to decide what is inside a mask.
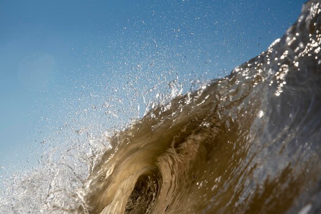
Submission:
[[[34,159],[43,135],[105,94],[126,96],[114,89],[135,78],[148,88],[168,70],[229,72],[282,36],[304,2],[0,1],[0,166]]]

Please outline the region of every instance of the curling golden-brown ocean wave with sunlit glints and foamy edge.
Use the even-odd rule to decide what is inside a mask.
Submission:
[[[74,172],[68,188],[43,187],[38,208],[320,213],[320,13],[320,1],[307,2],[266,52],[102,136],[88,177]]]

